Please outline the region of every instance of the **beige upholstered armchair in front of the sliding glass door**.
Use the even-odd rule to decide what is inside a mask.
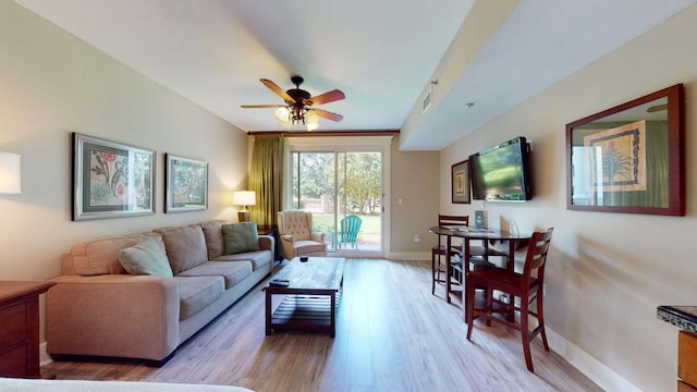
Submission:
[[[279,235],[283,257],[326,256],[325,233],[313,232],[313,213],[291,210],[279,211]]]

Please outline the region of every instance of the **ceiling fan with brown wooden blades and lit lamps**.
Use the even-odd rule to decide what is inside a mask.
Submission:
[[[314,131],[319,126],[319,118],[331,121],[341,121],[344,118],[341,114],[332,113],[315,107],[316,105],[329,103],[346,98],[343,91],[339,89],[333,89],[313,97],[306,90],[301,89],[301,85],[305,82],[302,76],[292,76],[291,82],[295,85],[295,88],[291,88],[286,91],[269,79],[261,78],[260,81],[271,91],[283,98],[285,105],[242,105],[242,108],[277,108],[273,111],[273,115],[286,130],[290,130],[293,124],[302,123],[307,127],[307,131]]]

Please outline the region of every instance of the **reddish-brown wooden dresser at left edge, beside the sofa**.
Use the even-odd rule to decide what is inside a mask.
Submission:
[[[41,377],[39,294],[52,284],[0,281],[0,376]]]

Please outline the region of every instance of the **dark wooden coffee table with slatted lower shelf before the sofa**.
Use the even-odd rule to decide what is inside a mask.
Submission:
[[[344,281],[344,259],[337,257],[298,257],[284,266],[273,279],[290,281],[286,287],[267,285],[266,334],[278,329],[329,331],[337,335],[337,307]],[[285,295],[271,313],[271,296]]]

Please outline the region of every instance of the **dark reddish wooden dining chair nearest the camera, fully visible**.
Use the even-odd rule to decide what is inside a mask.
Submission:
[[[545,264],[547,253],[552,240],[553,228],[545,232],[535,232],[528,244],[525,256],[525,265],[522,272],[515,272],[513,266],[510,268],[486,268],[470,271],[466,277],[466,314],[467,340],[472,341],[472,330],[474,320],[478,317],[486,319],[487,326],[491,321],[499,322],[506,327],[521,331],[523,341],[523,353],[527,369],[533,372],[533,357],[530,355],[530,341],[538,334],[542,339],[545,351],[549,352],[547,334],[545,332]],[[513,257],[509,262],[514,262]],[[487,289],[486,305],[482,308],[475,307],[475,287]],[[493,301],[493,291],[508,294],[508,302]],[[519,298],[519,305],[516,305]],[[535,309],[530,304],[535,302]],[[519,311],[519,321],[515,320],[514,313]],[[509,317],[501,318],[498,314]],[[530,331],[528,327],[528,316],[537,318],[537,327]]]

